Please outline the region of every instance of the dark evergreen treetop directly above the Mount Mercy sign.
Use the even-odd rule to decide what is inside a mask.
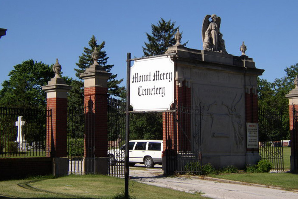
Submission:
[[[148,43],[144,42],[145,47],[143,53],[145,57],[153,55],[162,55],[167,51],[167,48],[176,44],[175,33],[178,27],[175,28],[175,21],[165,21],[160,18],[157,25],[151,24],[151,34],[145,33]],[[188,43],[184,43],[185,46]]]

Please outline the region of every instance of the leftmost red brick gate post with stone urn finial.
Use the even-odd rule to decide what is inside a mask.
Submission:
[[[55,77],[43,86],[46,92],[46,108],[52,109],[52,119],[47,121],[46,150],[53,158],[53,174],[68,174],[67,158],[67,92],[72,88],[60,78],[61,65],[56,59]]]

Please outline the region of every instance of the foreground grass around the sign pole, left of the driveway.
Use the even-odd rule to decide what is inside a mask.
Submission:
[[[132,198],[203,198],[135,181],[129,189]],[[0,181],[0,198],[116,198],[123,190],[124,179],[101,175]]]

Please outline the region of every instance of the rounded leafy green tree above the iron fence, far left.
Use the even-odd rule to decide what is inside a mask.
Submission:
[[[42,86],[54,76],[52,67],[32,59],[14,66],[9,80],[2,83],[0,105],[17,108],[45,108],[46,93]]]

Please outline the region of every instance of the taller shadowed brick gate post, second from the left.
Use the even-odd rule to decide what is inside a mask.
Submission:
[[[85,173],[94,167],[95,174],[108,174],[108,78],[111,73],[97,63],[99,53],[92,53],[94,63],[80,74],[84,80],[85,104]],[[86,110],[86,107],[87,110]],[[94,158],[92,164],[90,158]],[[89,164],[91,163],[91,164]],[[89,172],[93,172],[93,169]]]

